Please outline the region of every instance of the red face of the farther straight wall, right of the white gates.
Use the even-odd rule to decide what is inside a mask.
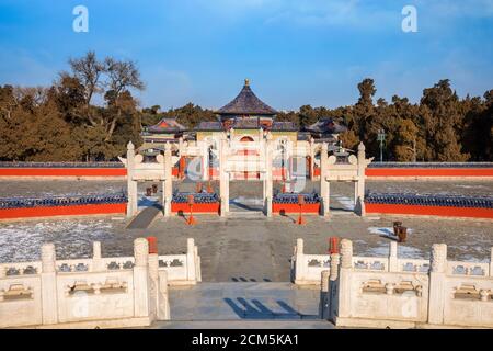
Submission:
[[[493,168],[367,168],[367,177],[493,177]]]

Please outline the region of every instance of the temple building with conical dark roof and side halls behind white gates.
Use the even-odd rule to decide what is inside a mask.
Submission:
[[[332,118],[322,118],[302,132],[293,122],[276,121],[278,112],[255,95],[248,79],[239,94],[215,113],[217,121],[203,121],[191,131],[175,118],[163,118],[145,129],[139,150],[152,157],[170,143],[174,176],[183,177],[190,162],[199,157],[200,165],[193,167],[198,169],[202,179],[218,179],[220,140],[226,136],[234,152],[229,156],[234,168],[229,171],[230,179],[261,179],[259,165],[265,157],[261,144],[268,137],[274,144],[275,180],[313,178],[320,166],[321,143],[329,143],[335,149],[339,133],[345,131]]]

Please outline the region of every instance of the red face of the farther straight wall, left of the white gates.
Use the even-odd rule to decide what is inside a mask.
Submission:
[[[125,168],[0,168],[0,177],[125,177]]]

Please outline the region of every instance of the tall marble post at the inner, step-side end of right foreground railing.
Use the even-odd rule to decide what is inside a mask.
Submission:
[[[351,278],[353,272],[353,241],[341,240],[341,267],[339,270],[337,306],[335,319],[351,316]]]

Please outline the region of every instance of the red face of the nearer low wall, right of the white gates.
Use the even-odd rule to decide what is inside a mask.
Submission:
[[[395,205],[395,204],[366,204],[365,208],[366,213],[377,213],[377,214],[402,214],[402,215],[471,217],[471,218],[493,219],[493,208],[419,206],[419,205]]]

